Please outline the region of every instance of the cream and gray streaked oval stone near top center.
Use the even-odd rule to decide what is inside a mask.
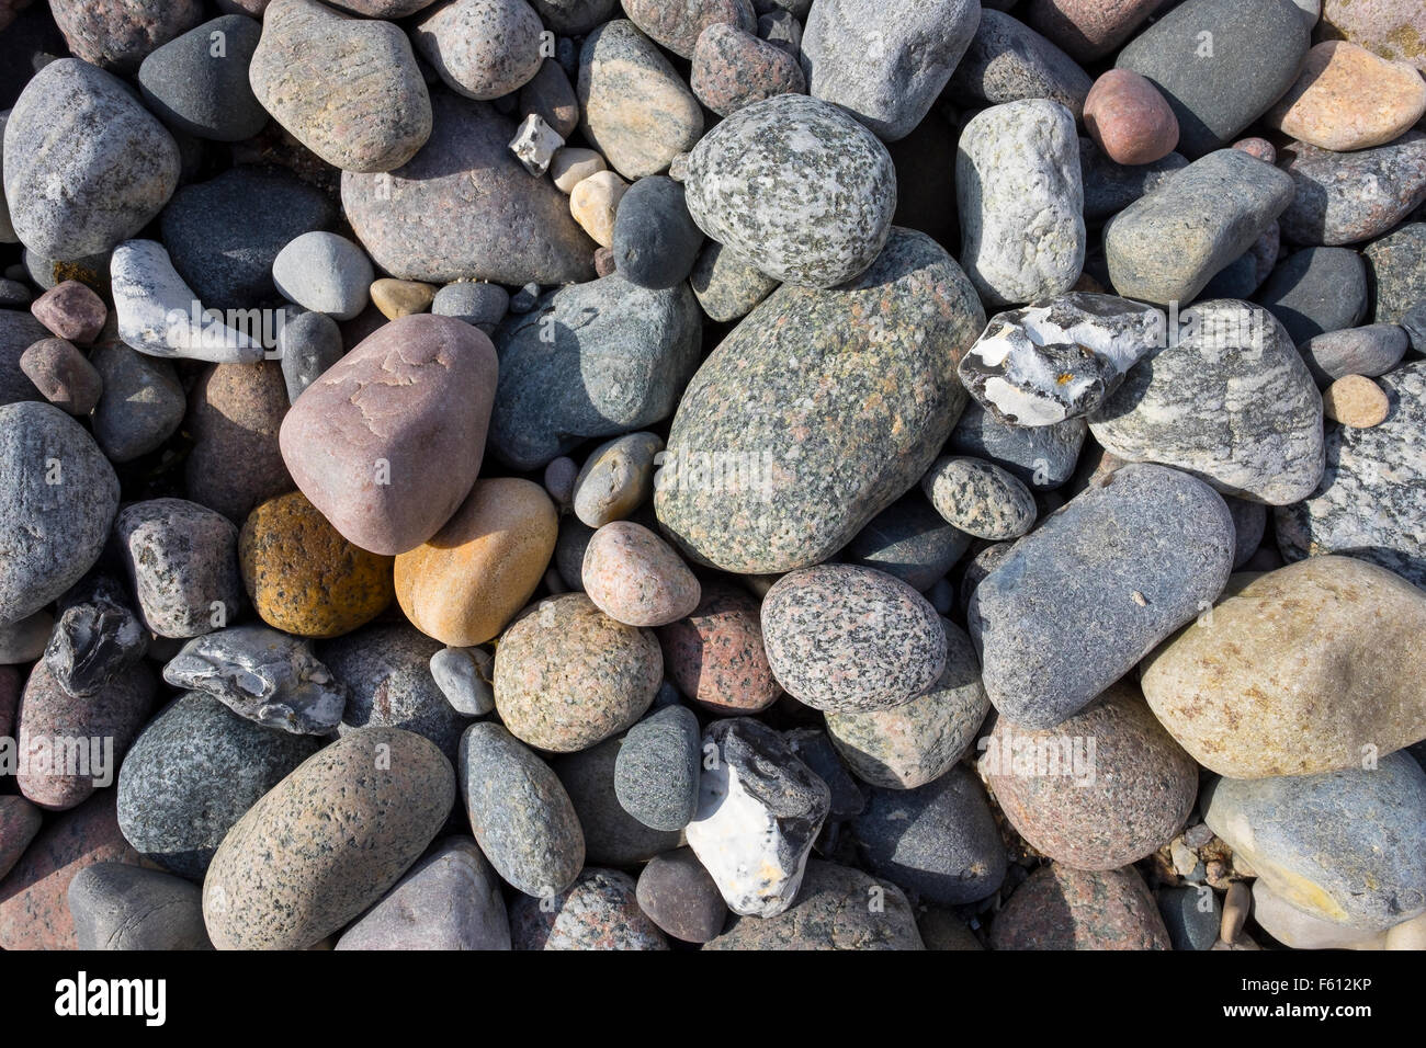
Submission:
[[[627,19],[585,37],[578,93],[585,137],[625,178],[667,170],[703,134],[693,91]]]

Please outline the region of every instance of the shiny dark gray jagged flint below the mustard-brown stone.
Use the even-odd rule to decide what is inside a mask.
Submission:
[[[332,679],[311,644],[267,626],[194,637],[164,666],[164,680],[292,734],[328,734],[347,706],[345,684]]]

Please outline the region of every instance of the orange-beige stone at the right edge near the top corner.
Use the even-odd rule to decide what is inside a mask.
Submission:
[[[1296,83],[1268,114],[1268,125],[1323,150],[1385,145],[1426,113],[1426,80],[1405,61],[1382,58],[1346,40],[1310,51]]]

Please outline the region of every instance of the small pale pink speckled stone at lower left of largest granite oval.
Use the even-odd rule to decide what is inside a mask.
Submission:
[[[585,548],[585,593],[626,626],[667,626],[692,615],[702,590],[667,542],[633,520],[615,520]]]

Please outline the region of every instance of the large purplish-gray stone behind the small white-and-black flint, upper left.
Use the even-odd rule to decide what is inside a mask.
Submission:
[[[342,175],[342,208],[376,265],[402,279],[566,284],[595,275],[569,201],[509,151],[515,121],[436,94],[429,141],[391,174]]]

